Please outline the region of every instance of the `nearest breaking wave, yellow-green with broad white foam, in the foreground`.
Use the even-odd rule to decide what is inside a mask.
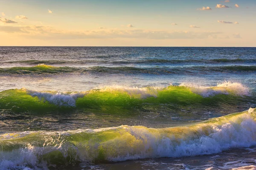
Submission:
[[[122,125],[63,132],[0,135],[0,164],[44,167],[75,162],[198,156],[256,145],[256,109],[189,126],[147,128]]]

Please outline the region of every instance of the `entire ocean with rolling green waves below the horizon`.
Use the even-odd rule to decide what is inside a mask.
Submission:
[[[255,170],[256,48],[0,47],[0,170]]]

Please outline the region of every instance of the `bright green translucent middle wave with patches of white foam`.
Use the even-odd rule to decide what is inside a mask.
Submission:
[[[45,112],[87,108],[114,112],[116,108],[140,109],[145,105],[236,104],[250,96],[248,88],[231,82],[214,87],[188,84],[170,85],[166,88],[108,86],[84,92],[31,91],[23,88],[0,92],[0,109]]]

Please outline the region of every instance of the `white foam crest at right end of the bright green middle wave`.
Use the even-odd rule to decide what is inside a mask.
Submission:
[[[218,94],[233,94],[237,96],[250,96],[248,88],[244,87],[240,83],[224,82],[213,87],[197,86],[192,84],[181,84],[180,86],[188,87],[195,94],[199,94],[203,97],[211,97]]]

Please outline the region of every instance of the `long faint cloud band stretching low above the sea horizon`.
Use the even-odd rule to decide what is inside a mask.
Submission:
[[[143,29],[96,29],[85,31],[56,30],[46,26],[0,26],[0,31],[40,40],[77,40],[77,39],[113,39],[137,38],[153,40],[169,39],[205,39],[216,37],[216,31],[156,31]]]

